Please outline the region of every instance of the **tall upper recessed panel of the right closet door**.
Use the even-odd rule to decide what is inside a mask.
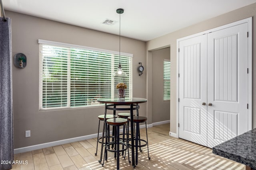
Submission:
[[[214,98],[237,102],[238,35],[214,39]]]

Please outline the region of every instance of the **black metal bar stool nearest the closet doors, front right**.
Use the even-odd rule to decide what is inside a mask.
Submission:
[[[131,117],[129,116],[128,118],[128,125],[129,125],[129,121],[131,121]],[[136,137],[135,137],[135,150],[136,150],[136,159],[135,159],[135,163],[136,165],[138,164],[138,147],[144,147],[147,145],[148,147],[148,131],[147,131],[147,117],[144,116],[134,116],[133,117],[133,122],[136,124]],[[147,137],[147,141],[145,141],[144,139],[140,139],[140,123],[144,123],[146,125],[146,137]],[[143,141],[145,144],[141,145],[140,142]],[[140,149],[140,152],[142,152],[142,150]],[[149,157],[149,151],[148,151],[148,159],[150,160]]]

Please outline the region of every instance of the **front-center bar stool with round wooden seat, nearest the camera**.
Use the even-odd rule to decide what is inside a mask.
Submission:
[[[107,160],[107,156],[105,157],[105,154],[107,154],[108,151],[110,152],[114,152],[114,157],[116,159],[116,169],[119,170],[119,155],[120,155],[120,152],[124,152],[124,150],[128,149],[128,145],[127,145],[127,142],[128,140],[126,140],[126,143],[124,140],[120,140],[120,137],[119,137],[119,130],[120,130],[120,126],[123,126],[123,128],[126,128],[126,123],[127,123],[127,119],[123,119],[123,118],[112,118],[112,119],[108,119],[107,120],[107,128],[109,129],[110,128],[110,125],[113,126],[113,129],[115,129],[115,140],[114,142],[108,142],[109,140],[107,140],[108,138],[108,135],[106,135],[106,145],[105,145],[105,152],[104,152],[104,160]],[[127,129],[126,129],[127,131]],[[114,144],[114,150],[113,149],[110,149],[110,145],[113,145]],[[120,150],[120,146],[119,145],[122,145],[124,146],[124,149],[121,149]],[[128,157],[129,157],[129,150],[128,150]],[[102,163],[102,166],[104,165],[104,160],[103,160],[103,163]]]

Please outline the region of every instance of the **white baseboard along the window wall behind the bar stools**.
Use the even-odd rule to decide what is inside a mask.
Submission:
[[[153,127],[153,126],[156,126],[156,125],[164,124],[163,122],[166,122],[166,121],[149,124],[149,125],[147,125],[147,128],[148,127]],[[170,120],[167,123],[169,123],[169,122],[170,122]],[[146,127],[145,124],[140,125],[140,129],[144,128],[144,127]],[[120,133],[122,133],[122,131],[123,131],[123,129],[120,129]],[[14,154],[18,154],[18,153],[22,153],[22,152],[29,152],[29,151],[32,151],[32,150],[43,149],[43,148],[47,148],[47,147],[54,147],[54,146],[63,145],[63,144],[66,144],[66,143],[83,141],[83,140],[86,140],[86,139],[92,139],[92,138],[96,138],[97,135],[98,134],[95,133],[95,134],[81,136],[81,137],[74,137],[74,138],[70,138],[70,139],[63,139],[63,140],[60,140],[60,141],[53,141],[53,142],[42,143],[42,144],[38,144],[38,145],[32,145],[32,146],[28,146],[28,147],[17,148],[17,149],[14,149]],[[99,133],[99,137],[102,137],[102,133]]]

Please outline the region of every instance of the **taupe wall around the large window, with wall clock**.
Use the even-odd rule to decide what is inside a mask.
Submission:
[[[16,12],[6,11],[6,16],[12,19],[12,57],[16,53],[27,57],[23,69],[12,64],[14,148],[97,133],[103,106],[39,111],[38,39],[119,51],[119,36]],[[146,76],[137,71],[139,62],[146,63],[145,49],[145,42],[121,37],[121,51],[133,54],[134,97],[146,97]],[[140,115],[145,111],[146,104],[140,104]],[[31,137],[25,138],[26,130]]]

